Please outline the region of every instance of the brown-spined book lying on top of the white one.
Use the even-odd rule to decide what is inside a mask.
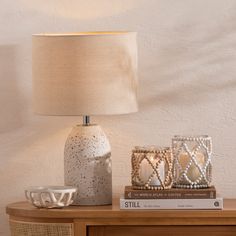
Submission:
[[[125,199],[215,199],[214,186],[203,189],[171,188],[164,190],[138,190],[132,186],[125,186]]]

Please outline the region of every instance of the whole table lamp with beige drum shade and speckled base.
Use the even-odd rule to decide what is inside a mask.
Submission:
[[[78,188],[74,204],[111,204],[110,144],[90,116],[137,111],[136,33],[37,34],[32,51],[34,111],[83,116],[64,152],[65,185]]]

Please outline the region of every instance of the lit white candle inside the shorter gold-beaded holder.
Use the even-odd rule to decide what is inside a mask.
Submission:
[[[156,167],[156,164],[158,162],[158,160],[155,160],[153,157],[150,157],[149,159],[151,161],[151,163],[153,164],[154,167]],[[158,171],[159,171],[159,175],[160,175],[160,179],[162,181],[162,183],[165,180],[165,165],[164,165],[164,161],[161,161],[158,165]],[[150,163],[144,159],[141,164],[140,164],[140,172],[139,172],[139,177],[140,179],[144,182],[147,183],[150,175],[152,175],[152,173],[154,172],[152,166],[150,165]],[[155,186],[160,186],[161,183],[157,177],[156,174],[154,174],[154,176],[152,177],[151,181],[149,182],[149,185],[155,185]]]

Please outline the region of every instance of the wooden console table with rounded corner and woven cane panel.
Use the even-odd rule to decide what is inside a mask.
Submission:
[[[112,206],[36,209],[9,204],[12,236],[235,236],[236,199],[224,210],[120,210]]]

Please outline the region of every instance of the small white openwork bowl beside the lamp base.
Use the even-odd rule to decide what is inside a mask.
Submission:
[[[76,191],[71,186],[35,186],[27,188],[25,196],[38,208],[62,208],[72,204]]]

